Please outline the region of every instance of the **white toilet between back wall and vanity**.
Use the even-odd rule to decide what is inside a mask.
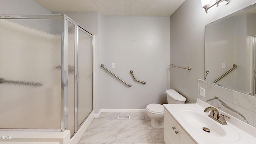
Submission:
[[[187,100],[175,90],[166,90],[168,104],[184,104]],[[148,104],[146,113],[151,118],[150,124],[153,128],[164,128],[164,106],[162,104]]]

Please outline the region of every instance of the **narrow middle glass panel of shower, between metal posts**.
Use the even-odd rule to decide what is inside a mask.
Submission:
[[[68,22],[68,130],[75,132],[75,25]]]

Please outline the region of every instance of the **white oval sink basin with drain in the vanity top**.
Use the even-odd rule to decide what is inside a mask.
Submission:
[[[235,142],[240,139],[239,134],[230,125],[222,125],[208,116],[204,111],[198,111],[195,108],[185,107],[181,110],[185,124],[202,136],[214,137],[227,142]],[[203,127],[210,129],[205,132]]]

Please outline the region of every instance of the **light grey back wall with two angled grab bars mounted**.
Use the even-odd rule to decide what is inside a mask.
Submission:
[[[132,87],[101,68],[101,109],[145,109],[147,104],[167,101],[169,26],[169,17],[102,16],[101,62]],[[130,70],[146,84],[134,81]]]

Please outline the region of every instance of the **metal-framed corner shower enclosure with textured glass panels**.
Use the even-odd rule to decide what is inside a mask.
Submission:
[[[92,34],[66,15],[0,15],[0,130],[70,130],[93,110]]]

